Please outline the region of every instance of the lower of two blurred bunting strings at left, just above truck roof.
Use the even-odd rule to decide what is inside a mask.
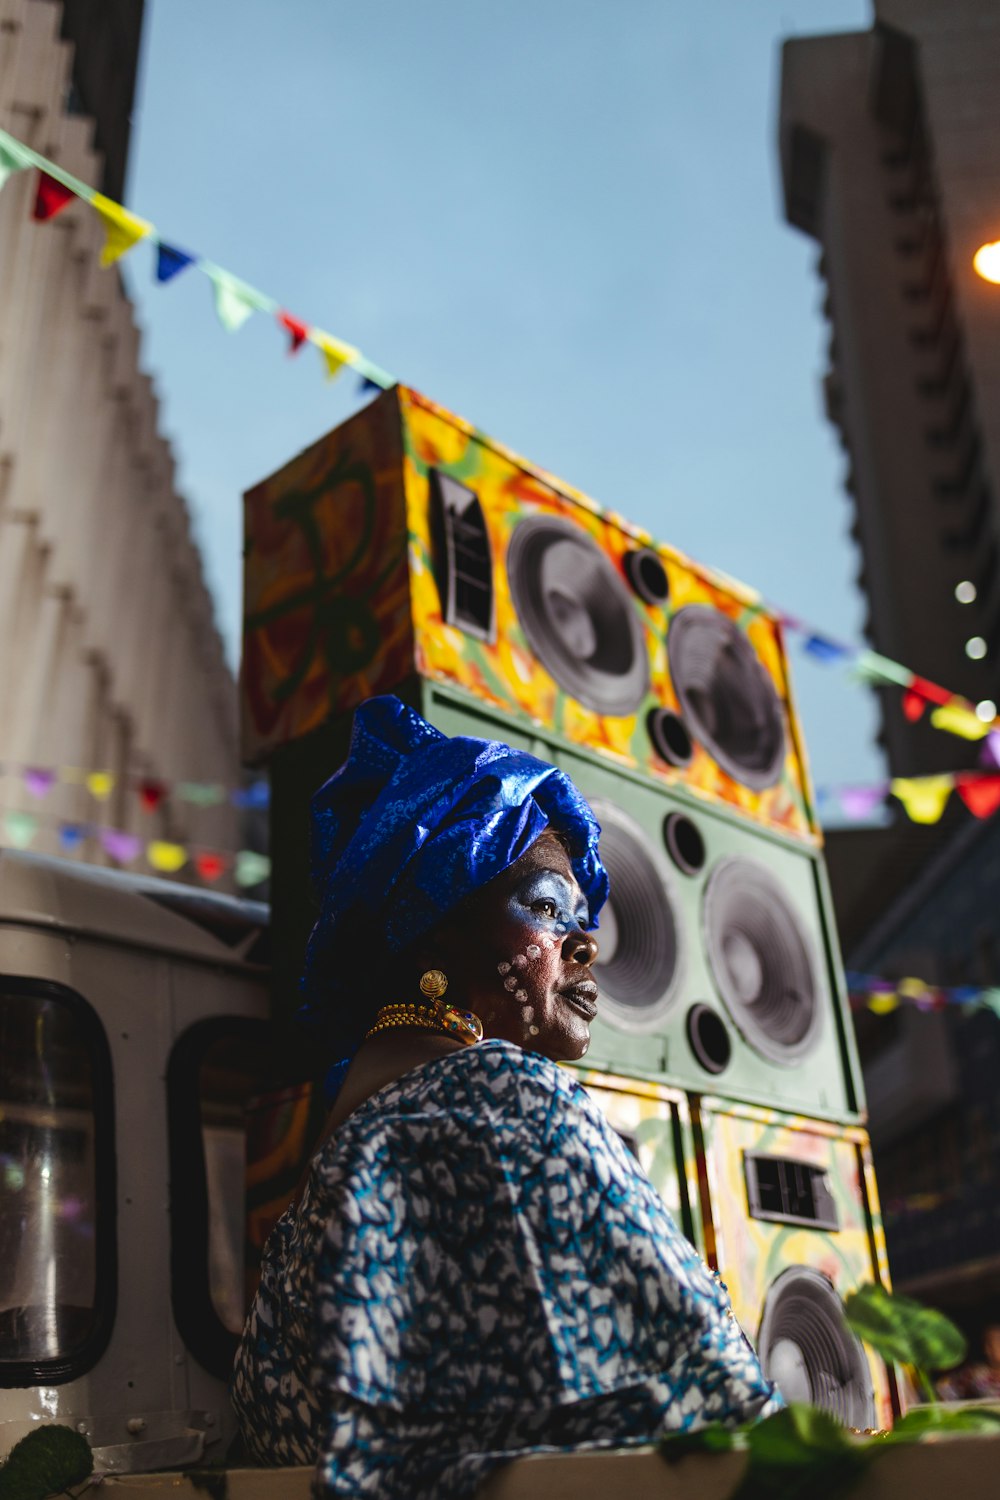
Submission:
[[[205,844],[177,843],[169,838],[142,838],[139,834],[126,832],[124,828],[73,822],[42,812],[9,808],[0,813],[3,838],[12,849],[30,849],[42,825],[55,830],[60,854],[82,855],[84,846],[93,838],[121,868],[133,866],[142,856],[156,874],[178,874],[190,866],[207,885],[213,885],[223,874],[231,873],[235,884],[243,888],[259,885],[271,873],[270,858],[265,854],[258,854],[256,849],[228,850]]]

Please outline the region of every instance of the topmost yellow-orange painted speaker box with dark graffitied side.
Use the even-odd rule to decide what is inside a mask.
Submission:
[[[396,387],[246,495],[243,748],[417,674],[814,842],[757,596]]]

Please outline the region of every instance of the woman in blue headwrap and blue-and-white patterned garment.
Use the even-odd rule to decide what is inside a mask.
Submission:
[[[571,1076],[600,830],[555,766],[364,704],[313,800],[304,988],[349,1065],[268,1240],[234,1401],[318,1492],[471,1496],[543,1446],[777,1404],[724,1288]]]

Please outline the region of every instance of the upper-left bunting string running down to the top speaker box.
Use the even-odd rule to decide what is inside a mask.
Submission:
[[[105,198],[55,162],[49,162],[46,156],[33,152],[24,141],[18,141],[7,130],[0,130],[0,188],[16,172],[30,168],[37,171],[31,218],[45,224],[75,198],[88,204],[99,216],[105,232],[102,266],[114,266],[141,240],[148,240],[154,248],[153,274],[157,282],[171,282],[189,268],[208,278],[216,316],[226,333],[235,333],[255,312],[262,312],[274,318],[288,340],[289,354],[297,354],[304,344],[312,344],[318,350],[327,380],[334,380],[342,369],[349,368],[357,372],[364,387],[385,390],[396,384],[393,375],[366,358],[352,344],[345,344],[324,328],[294,316],[274,297],[250,286],[225,267],[165,240],[148,219],[141,219],[123,204]]]

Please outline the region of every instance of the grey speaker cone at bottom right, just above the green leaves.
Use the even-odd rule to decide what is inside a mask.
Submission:
[[[757,1354],[786,1401],[822,1407],[846,1426],[876,1426],[865,1352],[844,1323],[832,1281],[819,1270],[790,1266],[771,1282]]]

